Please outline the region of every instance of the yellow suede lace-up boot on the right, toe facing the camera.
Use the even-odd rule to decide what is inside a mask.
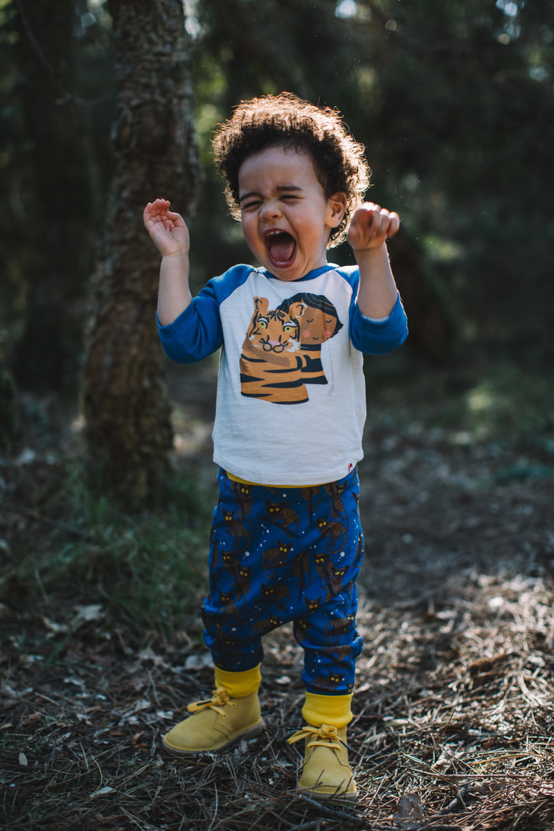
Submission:
[[[346,727],[305,725],[288,741],[292,744],[304,738],[306,753],[298,790],[313,799],[356,799],[358,789],[348,762]]]

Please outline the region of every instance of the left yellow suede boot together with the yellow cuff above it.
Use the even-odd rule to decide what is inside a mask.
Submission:
[[[187,710],[193,715],[164,735],[166,750],[175,755],[218,753],[235,742],[253,739],[263,730],[257,687],[259,666],[246,672],[216,669],[217,689],[207,701],[195,701]],[[222,681],[226,681],[225,686]],[[220,686],[221,685],[221,686]],[[248,690],[248,695],[243,693]]]

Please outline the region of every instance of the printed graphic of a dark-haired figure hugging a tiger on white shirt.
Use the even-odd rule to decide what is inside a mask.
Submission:
[[[302,404],[308,401],[306,384],[327,383],[321,345],[342,323],[320,295],[299,293],[277,309],[268,306],[266,297],[254,297],[239,361],[241,394],[272,404]]]

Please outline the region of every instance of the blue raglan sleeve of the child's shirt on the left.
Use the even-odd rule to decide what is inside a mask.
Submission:
[[[252,266],[237,265],[213,278],[173,323],[158,322],[159,339],[165,354],[177,363],[201,361],[223,346],[219,306],[248,278]]]

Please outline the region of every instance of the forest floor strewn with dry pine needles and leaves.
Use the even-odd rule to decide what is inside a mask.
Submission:
[[[137,634],[125,595],[163,527],[129,520],[115,540],[108,514],[96,510],[93,533],[68,513],[58,457],[78,455],[78,422],[37,417],[28,446],[2,463],[1,829],[554,828],[552,390],[510,368],[481,381],[439,371],[387,381],[396,370],[391,360],[369,373],[359,466],[358,801],[296,792],[301,757],[286,739],[301,724],[302,651],[290,627],[264,640],[260,738],[189,760],[161,748],[212,686],[194,617],[215,472],[208,365],[169,379],[176,460],[206,502],[184,538],[196,564],[177,622]],[[124,554],[123,571],[102,578],[101,558],[106,569]]]

